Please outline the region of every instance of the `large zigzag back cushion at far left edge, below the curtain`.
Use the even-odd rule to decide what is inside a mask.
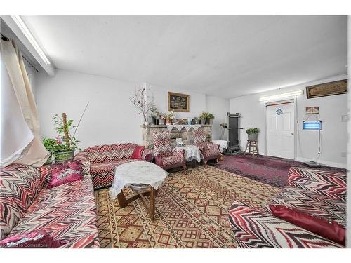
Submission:
[[[45,177],[32,166],[12,164],[0,169],[0,239],[26,213],[44,184]]]

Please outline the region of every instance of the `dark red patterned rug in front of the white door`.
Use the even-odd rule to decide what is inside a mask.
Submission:
[[[214,163],[213,166],[280,188],[288,184],[288,172],[291,166],[305,167],[298,161],[263,155],[225,155],[223,161]],[[345,169],[329,166],[318,169],[347,173]]]

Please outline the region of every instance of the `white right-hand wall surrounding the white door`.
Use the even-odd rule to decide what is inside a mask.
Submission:
[[[311,83],[303,83],[280,90],[271,90],[265,93],[256,93],[230,100],[230,112],[239,112],[242,116],[241,127],[260,129],[258,147],[260,154],[265,154],[265,102],[259,102],[260,97],[284,93],[289,90],[305,90],[306,86],[347,79],[347,75],[333,76]],[[322,120],[322,153],[317,161],[329,166],[346,168],[347,152],[347,122],[341,121],[342,115],[347,115],[347,94],[306,98],[306,95],[297,97],[297,120],[299,128],[296,134],[296,160],[316,161],[318,153],[318,132],[316,130],[303,130],[303,121],[306,119],[305,107],[319,106]],[[241,147],[246,145],[246,130],[241,130]]]

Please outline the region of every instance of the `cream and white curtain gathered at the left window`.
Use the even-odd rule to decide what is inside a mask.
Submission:
[[[0,166],[22,163],[42,166],[48,151],[41,142],[37,106],[20,50],[1,40]]]

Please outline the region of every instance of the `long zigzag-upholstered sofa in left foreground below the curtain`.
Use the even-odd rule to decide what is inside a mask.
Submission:
[[[22,198],[22,202],[12,203],[12,208],[18,207],[19,212],[17,213],[20,216],[6,237],[34,230],[44,230],[53,238],[67,241],[68,243],[63,245],[63,248],[100,247],[95,197],[89,167],[82,164],[82,180],[54,188],[47,187],[46,177],[50,177],[50,173],[46,173],[47,170],[47,166],[37,169],[24,165],[11,165],[1,170],[0,194],[13,192],[12,196],[9,195],[13,199],[18,196]],[[15,196],[16,193],[17,196]],[[5,215],[6,220],[11,219],[11,215],[8,214],[10,210],[6,207],[2,197],[1,235],[4,234],[2,216]],[[20,203],[22,205],[19,205]],[[1,236],[1,239],[4,237]]]

